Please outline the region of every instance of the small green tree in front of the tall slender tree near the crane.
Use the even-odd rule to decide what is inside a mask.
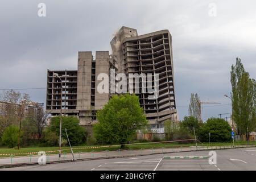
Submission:
[[[202,125],[202,123],[199,122],[198,119],[196,119],[195,117],[192,117],[192,116],[189,116],[189,117],[185,116],[183,121],[180,123],[180,127],[187,129],[189,131],[189,133],[191,133],[192,135],[194,135],[193,128],[195,128],[195,132],[198,133],[201,125]]]

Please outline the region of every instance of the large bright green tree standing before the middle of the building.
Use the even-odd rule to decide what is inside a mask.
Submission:
[[[139,98],[124,94],[113,96],[102,110],[97,112],[98,123],[94,125],[94,136],[98,142],[120,143],[121,147],[137,130],[147,125],[147,119]]]

